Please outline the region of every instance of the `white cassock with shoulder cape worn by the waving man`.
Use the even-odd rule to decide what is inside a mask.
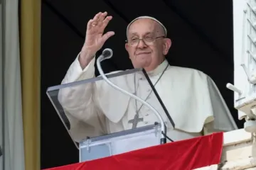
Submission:
[[[78,55],[79,56],[79,55]],[[164,72],[164,74],[162,74]],[[161,101],[174,120],[171,126],[156,97],[150,97],[151,88],[142,74],[128,74],[110,81],[122,89],[136,92],[142,99],[147,98],[160,111],[167,126],[167,136],[172,140],[185,140],[206,132],[230,131],[237,129],[228,107],[217,86],[210,77],[196,69],[174,67],[167,60],[149,78]],[[136,75],[136,77],[134,77]],[[95,59],[81,69],[78,57],[70,65],[62,84],[95,77]],[[161,77],[161,79],[159,79]],[[135,83],[134,83],[135,81]],[[87,136],[104,135],[132,128],[129,120],[134,119],[142,103],[136,103],[104,80],[87,86],[60,89],[58,100],[70,121],[70,133],[79,142]],[[142,127],[159,122],[156,115],[146,106],[139,110],[137,125]]]

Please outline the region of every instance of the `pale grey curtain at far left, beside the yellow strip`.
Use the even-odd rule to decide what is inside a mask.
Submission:
[[[2,109],[4,169],[24,170],[18,0],[2,1]]]

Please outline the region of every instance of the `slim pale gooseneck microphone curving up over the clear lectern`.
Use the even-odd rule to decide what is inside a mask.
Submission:
[[[131,96],[135,100],[142,102],[145,106],[147,106],[149,109],[151,109],[151,111],[153,111],[155,113],[157,118],[159,118],[160,124],[161,124],[161,141],[160,142],[161,142],[161,144],[165,144],[166,143],[166,137],[165,137],[165,135],[166,135],[166,125],[164,123],[164,119],[161,117],[159,112],[156,111],[156,109],[153,106],[151,106],[149,103],[144,101],[142,98],[139,98],[138,96],[135,96],[134,94],[131,94],[128,91],[124,91],[123,89],[119,88],[119,86],[113,84],[109,79],[107,79],[104,72],[102,71],[102,67],[100,65],[100,62],[102,62],[103,60],[106,60],[106,59],[110,59],[112,57],[112,55],[113,55],[112,50],[107,48],[107,49],[103,50],[102,55],[100,55],[100,57],[97,58],[97,69],[100,72],[100,75],[102,76],[103,79],[105,79],[107,84],[110,84],[110,86],[112,86],[114,89],[117,89],[118,91],[121,91],[123,94]]]

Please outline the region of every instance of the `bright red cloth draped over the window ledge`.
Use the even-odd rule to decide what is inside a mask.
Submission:
[[[47,170],[191,170],[220,163],[223,132]]]

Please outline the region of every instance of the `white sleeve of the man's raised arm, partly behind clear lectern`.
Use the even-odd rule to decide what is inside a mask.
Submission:
[[[70,65],[62,84],[95,77],[95,57],[83,70],[80,67],[78,57]],[[99,88],[96,89],[95,83],[79,84],[60,89],[58,101],[70,121],[71,130],[77,128],[82,121],[86,123],[86,126],[92,126],[94,130],[105,133],[105,116],[97,108],[100,90]]]

